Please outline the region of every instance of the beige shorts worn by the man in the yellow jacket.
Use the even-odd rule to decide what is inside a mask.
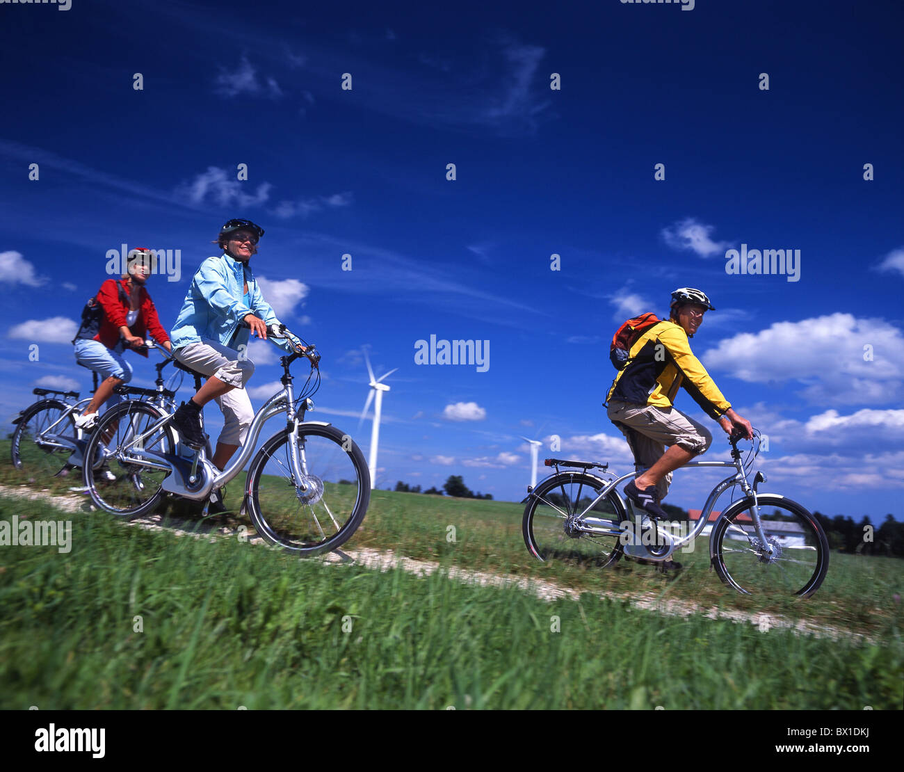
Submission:
[[[610,401],[607,415],[625,435],[637,466],[645,469],[663,457],[666,446],[677,445],[700,455],[712,444],[712,435],[707,428],[675,408]],[[638,469],[637,475],[641,471]],[[660,499],[665,498],[669,485],[672,485],[671,472],[656,484]]]

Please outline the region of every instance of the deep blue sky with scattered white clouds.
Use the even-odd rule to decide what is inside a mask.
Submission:
[[[366,455],[363,348],[378,375],[399,368],[383,487],[463,475],[519,500],[522,436],[541,457],[557,435],[557,455],[627,470],[601,405],[608,342],[691,286],[717,309],[693,350],[769,436],[768,487],[901,517],[902,15],[793,0],[2,5],[0,410],[39,382],[87,391],[69,340],[109,249],[180,250],[180,279],[148,283],[169,328],[221,223],[248,217],[267,230],[252,267],[268,299],[323,353],[311,418]],[[799,249],[797,280],[726,273],[742,244]],[[431,334],[489,341],[489,368],[416,364]],[[276,357],[251,349],[256,406]],[[677,407],[726,457],[690,397]],[[668,501],[700,506],[717,477],[679,473]]]

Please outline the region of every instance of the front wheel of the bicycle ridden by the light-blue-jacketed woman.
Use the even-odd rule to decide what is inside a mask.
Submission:
[[[299,480],[292,471],[292,442],[284,429],[251,462],[249,514],[265,541],[309,557],[335,550],[357,530],[370,503],[371,476],[348,435],[332,426],[299,424]]]

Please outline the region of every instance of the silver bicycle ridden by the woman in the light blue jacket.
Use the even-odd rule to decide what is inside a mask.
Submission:
[[[314,410],[310,397],[320,385],[315,346],[285,325],[270,325],[268,337],[285,338],[296,351],[280,358],[283,388],[255,413],[244,445],[225,469],[213,466],[209,448],[195,450],[180,442],[171,406],[167,410],[129,400],[99,419],[85,450],[89,462],[106,453],[116,476],[111,483],[98,479],[92,464],[86,463],[84,480],[92,502],[132,518],[153,511],[165,495],[207,501],[213,491],[238,477],[250,460],[240,513],[250,515],[264,540],[302,556],[334,550],[348,540],[370,502],[367,464],[347,434],[329,423],[305,419],[306,411]],[[289,367],[299,357],[310,362],[311,371],[296,394]],[[175,366],[196,378],[206,377],[181,362]],[[285,428],[255,454],[264,424],[282,414]]]

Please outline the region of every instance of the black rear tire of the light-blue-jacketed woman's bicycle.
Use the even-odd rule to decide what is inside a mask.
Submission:
[[[118,425],[118,422],[127,416],[140,416],[141,414],[144,414],[150,419],[150,422],[146,426],[150,426],[151,423],[158,419],[162,419],[166,415],[165,411],[160,410],[155,405],[144,400],[126,400],[105,412],[91,432],[88,447],[85,448],[85,465],[82,467],[82,479],[84,480],[85,486],[88,488],[91,502],[105,512],[129,519],[140,517],[151,512],[155,508],[163,495],[163,480],[166,474],[156,470],[140,471],[139,467],[126,464],[111,457],[109,468],[114,472],[114,475],[117,475],[117,473],[119,474],[117,475],[117,479],[112,483],[101,482],[96,475],[99,470],[94,468],[95,466],[98,466],[94,463],[94,457],[98,453],[98,448],[100,447],[100,443],[107,428],[114,424]],[[175,455],[178,444],[175,430],[172,425],[166,424],[164,427],[159,428],[158,432],[160,433],[160,440],[154,440],[152,437],[150,446],[146,447],[154,447],[159,441],[163,441],[166,447],[160,452],[167,455]],[[120,442],[121,441],[122,440],[120,439]],[[133,475],[138,475],[137,480]],[[128,490],[127,486],[131,486],[132,490],[140,493],[146,490],[148,482],[150,482],[150,485],[154,487],[155,490],[153,493],[147,494],[147,497],[139,504],[134,504],[132,506],[117,505],[117,501],[115,500],[117,486],[123,496],[128,494],[129,498],[134,502],[136,496]],[[138,487],[139,485],[142,486],[140,490]]]

